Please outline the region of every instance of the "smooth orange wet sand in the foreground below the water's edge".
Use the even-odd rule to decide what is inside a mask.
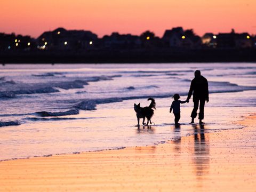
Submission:
[[[246,127],[195,125],[157,146],[0,162],[0,191],[256,191],[256,115],[236,123]]]

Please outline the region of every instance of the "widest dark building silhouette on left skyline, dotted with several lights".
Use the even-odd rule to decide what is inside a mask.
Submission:
[[[92,49],[97,35],[85,30],[66,30],[58,28],[46,31],[37,38],[38,49],[50,50],[86,50]]]

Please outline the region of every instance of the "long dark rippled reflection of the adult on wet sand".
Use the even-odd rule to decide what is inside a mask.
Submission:
[[[194,128],[194,155],[193,163],[197,179],[203,179],[203,176],[209,173],[210,166],[210,147],[209,139],[205,139],[204,124],[193,125]]]

